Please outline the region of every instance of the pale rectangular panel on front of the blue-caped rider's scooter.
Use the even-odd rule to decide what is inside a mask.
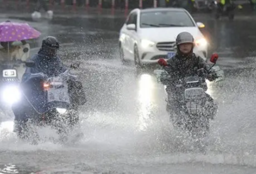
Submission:
[[[69,94],[67,91],[67,87],[63,88],[51,88],[47,91],[48,102],[52,101],[61,101],[61,102],[69,102]]]

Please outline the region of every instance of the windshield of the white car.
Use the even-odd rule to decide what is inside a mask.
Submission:
[[[195,26],[185,11],[141,12],[140,27],[185,27]]]

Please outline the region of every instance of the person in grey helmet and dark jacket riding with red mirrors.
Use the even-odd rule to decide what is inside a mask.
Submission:
[[[209,74],[207,79],[212,81],[216,78],[216,74],[213,69],[200,57],[193,53],[194,38],[189,32],[181,32],[176,38],[177,53],[174,57],[167,60],[168,62],[168,73],[171,79],[167,81],[162,80],[162,83],[167,85],[166,92],[168,93],[167,101],[167,112],[179,112],[179,106],[177,106],[176,98],[179,95],[178,91],[175,91],[175,85],[179,79],[194,76],[197,74],[197,70],[204,68]],[[182,91],[183,92],[183,91]],[[213,101],[209,96],[209,100]],[[214,106],[217,107],[217,106]],[[214,115],[214,114],[212,114]]]

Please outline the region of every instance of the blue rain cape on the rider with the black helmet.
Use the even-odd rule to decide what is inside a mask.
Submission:
[[[34,55],[29,61],[35,63],[35,67],[27,67],[21,81],[21,90],[26,97],[21,99],[21,102],[13,104],[12,110],[16,121],[27,121],[27,113],[31,105],[38,113],[46,112],[47,100],[45,99],[44,91],[40,84],[41,79],[38,77],[31,80],[31,74],[43,73],[49,76],[58,76],[65,72],[67,67],[64,66],[58,56],[47,57],[43,50]],[[82,83],[77,80],[71,80],[69,84],[69,94],[74,107],[82,105],[86,102],[85,93]],[[29,102],[28,102],[29,101]]]

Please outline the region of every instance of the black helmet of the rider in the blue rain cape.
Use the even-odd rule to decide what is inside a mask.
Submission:
[[[53,57],[59,51],[59,41],[53,36],[47,36],[42,41],[41,50],[46,56]]]

